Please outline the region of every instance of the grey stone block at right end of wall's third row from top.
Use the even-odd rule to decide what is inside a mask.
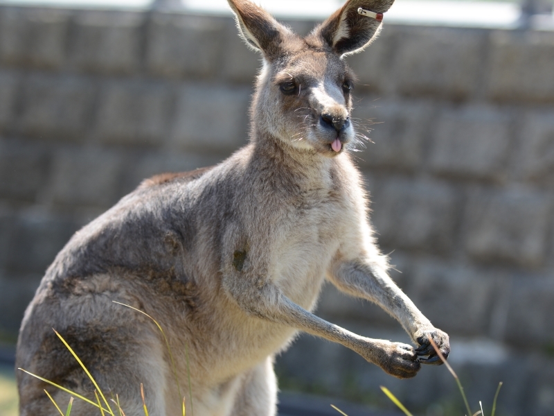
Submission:
[[[481,261],[538,267],[552,214],[548,196],[526,189],[483,189],[465,209],[465,250]]]

